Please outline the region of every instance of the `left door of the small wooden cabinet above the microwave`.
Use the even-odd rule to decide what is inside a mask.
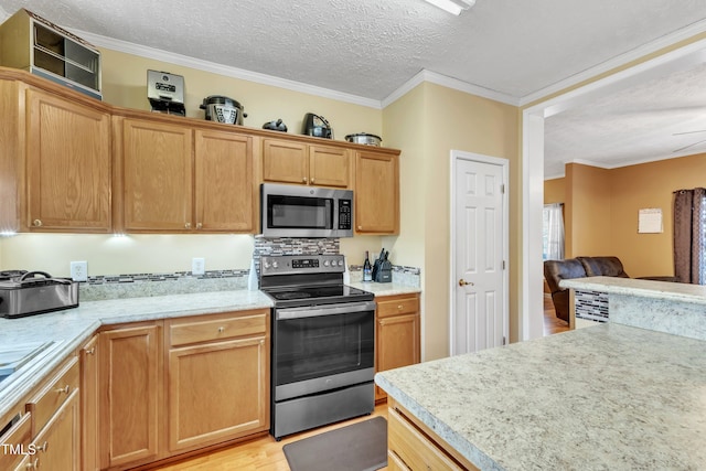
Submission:
[[[309,183],[307,144],[279,139],[263,140],[263,181]]]

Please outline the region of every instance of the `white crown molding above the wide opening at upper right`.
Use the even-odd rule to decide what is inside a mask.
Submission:
[[[662,38],[659,38],[650,43],[643,44],[639,47],[633,49],[632,51],[629,51],[624,54],[620,54],[616,57],[612,57],[595,67],[590,67],[587,68],[584,72],[580,72],[578,74],[575,74],[564,81],[557,82],[554,85],[550,85],[548,87],[542,88],[537,92],[534,92],[530,95],[525,95],[522,98],[520,98],[520,105],[521,107],[530,105],[532,103],[535,101],[541,101],[543,99],[545,99],[548,96],[552,96],[554,94],[557,94],[561,90],[565,90],[567,88],[570,88],[573,86],[576,86],[578,84],[580,84],[581,82],[585,81],[590,81],[591,78],[595,78],[601,74],[608,73],[610,71],[613,71],[618,67],[621,67],[625,64],[629,64],[630,62],[633,61],[638,61],[640,58],[643,58],[650,54],[653,54],[660,50],[663,50],[665,47],[670,47],[673,46],[674,44],[681,42],[681,41],[686,41],[689,40],[698,34],[702,34],[706,32],[706,20],[700,20],[697,21],[696,23],[689,24],[688,26],[685,26],[674,33],[671,34],[666,34]],[[698,43],[702,43],[702,41],[698,41]],[[703,47],[703,44],[699,45],[692,45],[692,46],[684,46],[684,47],[680,47],[678,50],[675,51],[680,51],[681,54],[684,54],[685,52],[688,52],[693,47]],[[673,52],[675,52],[673,51]],[[656,65],[662,65],[662,64],[666,64],[670,61],[672,61],[673,57],[671,55],[671,53],[665,53],[661,56],[657,56],[651,61],[648,61],[652,66],[656,66]],[[635,66],[639,67],[639,66]],[[631,67],[631,68],[635,68],[635,67]]]

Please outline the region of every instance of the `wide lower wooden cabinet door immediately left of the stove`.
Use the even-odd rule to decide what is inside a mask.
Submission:
[[[267,430],[268,363],[265,336],[170,350],[170,452]]]

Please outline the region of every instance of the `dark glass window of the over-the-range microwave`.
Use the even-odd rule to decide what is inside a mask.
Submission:
[[[333,200],[325,197],[267,197],[267,227],[331,229]]]

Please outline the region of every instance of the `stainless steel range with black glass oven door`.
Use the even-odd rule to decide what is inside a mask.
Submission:
[[[371,414],[374,295],[343,285],[342,255],[269,256],[260,289],[272,311],[270,433]]]

